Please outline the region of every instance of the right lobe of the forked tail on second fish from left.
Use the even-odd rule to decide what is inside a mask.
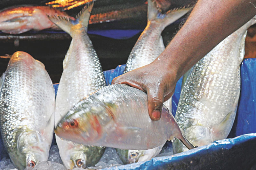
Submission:
[[[78,22],[81,25],[83,25],[86,32],[87,32],[88,23],[89,23],[90,15],[91,15],[91,12],[92,12],[93,4],[94,4],[94,0],[91,1],[91,2],[86,3],[84,8],[76,16],[76,20],[78,20]]]

